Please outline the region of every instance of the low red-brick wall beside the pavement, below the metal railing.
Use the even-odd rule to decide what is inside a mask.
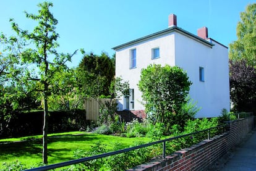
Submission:
[[[207,170],[211,164],[224,156],[229,149],[240,143],[254,127],[254,117],[235,120],[229,123],[229,131],[204,140],[194,146],[174,152],[165,159],[153,159],[147,164],[129,170]]]

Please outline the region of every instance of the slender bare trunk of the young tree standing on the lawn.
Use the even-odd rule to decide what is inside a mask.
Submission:
[[[44,107],[43,107],[43,164],[48,164],[47,157],[47,133],[48,133],[48,104],[47,104],[47,91],[44,94]]]

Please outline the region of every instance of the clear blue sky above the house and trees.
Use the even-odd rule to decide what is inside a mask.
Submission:
[[[0,31],[14,35],[9,19],[20,28],[32,30],[35,22],[23,13],[38,11],[36,0],[0,0]],[[113,48],[127,41],[168,28],[168,15],[177,15],[177,26],[197,34],[197,29],[208,27],[208,36],[228,46],[236,37],[240,12],[251,0],[55,0],[54,17],[58,20],[59,52],[72,53],[83,48],[86,52],[114,54]],[[82,59],[77,53],[70,67]]]

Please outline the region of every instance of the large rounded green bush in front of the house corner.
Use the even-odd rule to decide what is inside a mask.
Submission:
[[[176,66],[154,64],[142,69],[139,90],[149,117],[164,123],[168,131],[186,102],[191,84],[186,72]]]

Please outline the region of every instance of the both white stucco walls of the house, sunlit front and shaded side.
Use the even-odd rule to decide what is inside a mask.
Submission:
[[[140,71],[149,64],[177,65],[187,71],[193,85],[190,98],[202,107],[196,117],[215,117],[221,109],[229,111],[228,49],[212,41],[215,46],[205,44],[177,33],[176,31],[158,38],[143,41],[116,51],[116,77],[129,81],[134,89],[135,110],[145,109],[137,84]],[[137,67],[130,69],[130,49],[136,48]],[[151,49],[160,48],[160,58],[151,59]],[[199,67],[205,70],[205,81],[199,81]],[[118,109],[122,111],[124,100]]]

